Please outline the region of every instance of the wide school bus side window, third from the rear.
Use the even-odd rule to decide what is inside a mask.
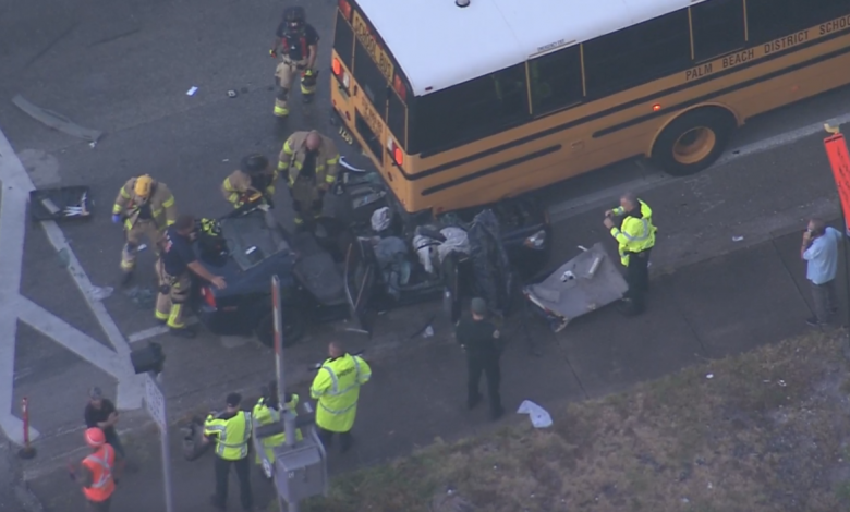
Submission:
[[[587,96],[603,96],[691,65],[688,10],[646,21],[584,44]]]

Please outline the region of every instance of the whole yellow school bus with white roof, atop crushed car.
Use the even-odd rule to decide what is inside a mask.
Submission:
[[[850,83],[850,0],[339,0],[335,31],[341,133],[411,214],[640,156],[691,174]]]

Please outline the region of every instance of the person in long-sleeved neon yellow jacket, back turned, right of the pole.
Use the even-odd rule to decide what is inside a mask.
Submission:
[[[330,358],[323,363],[313,379],[309,394],[318,400],[316,426],[319,439],[330,447],[333,435],[339,434],[342,452],[351,449],[351,428],[357,415],[360,387],[372,378],[372,368],[359,355],[351,355],[338,341],[328,345]]]

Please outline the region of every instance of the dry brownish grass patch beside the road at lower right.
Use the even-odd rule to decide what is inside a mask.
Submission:
[[[336,479],[329,498],[303,510],[850,510],[850,377],[839,336],[789,340],[573,403],[552,412],[550,429],[437,442]]]

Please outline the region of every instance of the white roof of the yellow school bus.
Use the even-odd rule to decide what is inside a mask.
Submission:
[[[355,0],[423,96],[704,0]]]

